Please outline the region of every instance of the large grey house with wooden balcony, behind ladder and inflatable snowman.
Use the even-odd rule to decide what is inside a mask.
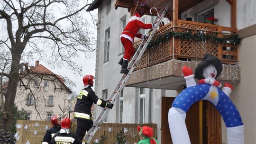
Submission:
[[[130,15],[134,11],[143,13],[151,7],[161,9],[168,1],[94,0],[87,9],[98,9],[95,92],[100,98],[108,99],[122,76],[119,73],[121,67],[117,63],[123,55],[119,35]],[[245,144],[255,144],[256,67],[253,63],[256,62],[256,1],[173,2],[167,15],[171,22],[165,23],[165,27],[159,29],[156,36],[171,30],[192,33],[203,30],[219,37],[238,34],[243,38],[240,45],[209,40],[205,42],[204,49],[200,41],[170,38],[167,42],[148,47],[105,122],[156,123],[157,139],[161,144],[171,144],[167,114],[174,98],[185,85],[182,66],[187,65],[194,70],[206,52],[226,63],[218,80],[222,84],[228,81],[234,86],[230,99],[237,106],[245,124]],[[215,25],[204,23],[210,16],[218,18]],[[147,17],[147,23],[152,21],[152,17]],[[138,44],[135,42],[134,45]],[[238,61],[239,64],[234,64]],[[100,110],[96,107],[96,114]],[[227,144],[225,124],[210,102],[194,104],[187,113],[186,124],[192,144]]]

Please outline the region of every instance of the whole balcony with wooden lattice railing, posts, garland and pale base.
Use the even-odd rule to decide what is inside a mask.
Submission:
[[[161,9],[168,0],[117,0],[117,7],[128,8],[147,14],[145,9],[155,7]],[[127,86],[155,89],[177,90],[185,85],[182,67],[187,65],[195,70],[204,54],[218,57],[223,65],[219,81],[240,81],[238,65],[238,44],[236,36],[236,0],[227,0],[230,4],[230,27],[205,24],[182,20],[181,12],[192,8],[204,0],[173,0],[173,5],[167,11],[166,18],[171,22],[155,32],[150,45],[142,55],[137,67],[129,77]],[[179,5],[178,3],[182,3]],[[125,6],[124,6],[125,5]],[[153,13],[153,15],[156,15]],[[171,17],[172,16],[172,17]],[[202,40],[203,38],[203,40]],[[141,40],[134,43],[137,48]]]

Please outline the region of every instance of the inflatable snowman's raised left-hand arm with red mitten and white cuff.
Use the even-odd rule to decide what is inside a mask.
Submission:
[[[184,75],[184,79],[186,80],[187,87],[196,85],[196,82],[194,80],[194,74],[191,68],[188,68],[187,66],[183,66],[182,73]]]

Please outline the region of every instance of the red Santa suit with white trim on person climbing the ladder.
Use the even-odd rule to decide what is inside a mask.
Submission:
[[[133,47],[134,37],[137,38],[145,38],[146,35],[138,34],[139,28],[149,29],[153,28],[154,24],[145,24],[142,22],[142,19],[139,17],[138,13],[135,13],[135,16],[129,19],[127,26],[124,28],[120,39],[122,45],[124,46],[125,53],[124,53],[124,60],[130,60],[130,58],[134,55],[135,49]]]

